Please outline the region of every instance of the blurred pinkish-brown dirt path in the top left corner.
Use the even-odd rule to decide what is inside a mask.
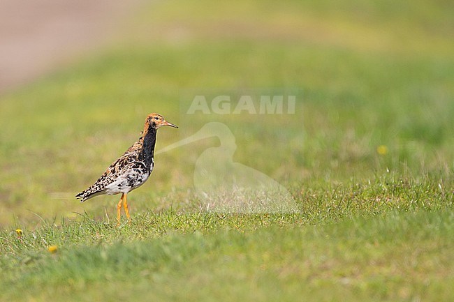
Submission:
[[[107,40],[140,0],[1,0],[0,94]]]

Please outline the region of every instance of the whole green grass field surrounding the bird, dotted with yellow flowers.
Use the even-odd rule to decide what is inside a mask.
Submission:
[[[148,4],[0,97],[0,301],[454,299],[453,4],[287,2]],[[244,91],[297,91],[295,114],[186,114]],[[115,227],[119,196],[80,204],[150,112],[180,126],[158,150],[225,123],[233,160],[298,213],[203,211],[214,138],[156,155],[131,224]]]

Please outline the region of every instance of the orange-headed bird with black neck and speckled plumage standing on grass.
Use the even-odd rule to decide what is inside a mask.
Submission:
[[[163,119],[160,114],[149,114],[138,141],[115,160],[91,187],[80,192],[75,197],[80,199],[80,202],[85,202],[87,199],[103,194],[115,195],[122,193],[126,195],[131,190],[142,186],[153,171],[156,130],[161,128],[161,126],[178,128]],[[122,199],[120,199],[120,202]],[[127,208],[126,214],[129,215]]]

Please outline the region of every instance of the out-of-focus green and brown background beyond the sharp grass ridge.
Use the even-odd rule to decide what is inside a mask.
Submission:
[[[234,160],[298,200],[383,173],[452,188],[452,1],[52,1],[0,3],[0,223],[114,215],[79,204],[159,112],[235,135]],[[188,116],[193,94],[300,91],[295,114]],[[201,92],[200,92],[201,91]],[[156,156],[132,207],[189,206],[194,163],[215,138]]]

